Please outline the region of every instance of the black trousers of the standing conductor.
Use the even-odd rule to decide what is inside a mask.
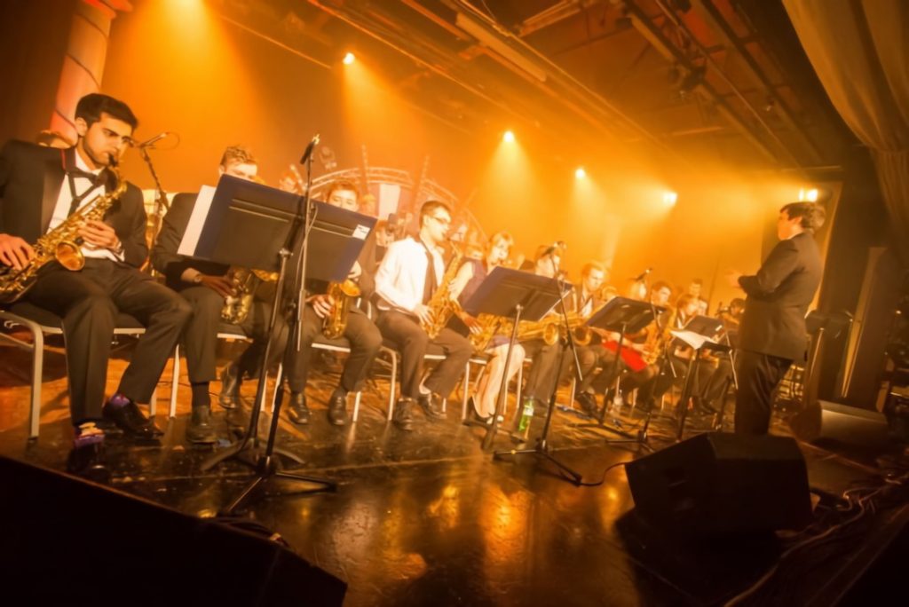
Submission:
[[[738,373],[735,433],[766,434],[770,430],[774,390],[792,361],[745,350],[735,353],[735,359]]]

